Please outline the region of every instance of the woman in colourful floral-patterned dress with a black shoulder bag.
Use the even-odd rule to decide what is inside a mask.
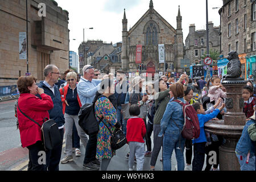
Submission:
[[[104,79],[101,82],[100,88],[94,99],[94,102],[96,101],[94,106],[96,119],[99,122],[96,158],[101,159],[100,170],[106,171],[110,160],[115,155],[115,151],[111,148],[111,134],[108,128],[113,132],[115,128],[120,129],[121,125],[117,122],[117,111],[108,98],[114,94],[113,80],[109,78]]]

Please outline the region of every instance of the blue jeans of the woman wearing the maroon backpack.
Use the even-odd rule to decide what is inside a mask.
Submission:
[[[184,171],[184,147],[185,139],[179,130],[168,131],[163,137],[163,171],[171,171],[171,157],[175,150],[177,171]]]

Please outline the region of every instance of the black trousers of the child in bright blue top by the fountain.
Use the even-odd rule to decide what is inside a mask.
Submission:
[[[192,162],[192,171],[202,171],[204,166],[204,155],[205,155],[205,143],[194,143],[193,152],[194,159]]]

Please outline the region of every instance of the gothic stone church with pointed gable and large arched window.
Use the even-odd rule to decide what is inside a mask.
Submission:
[[[137,45],[142,46],[142,64],[148,73],[164,71],[164,64],[159,64],[158,44],[164,44],[165,62],[174,64],[176,72],[181,71],[183,59],[183,31],[180,8],[176,17],[177,28],[171,26],[155,9],[152,0],[146,13],[127,31],[126,14],[122,20],[122,69],[125,72],[137,72],[135,64]]]

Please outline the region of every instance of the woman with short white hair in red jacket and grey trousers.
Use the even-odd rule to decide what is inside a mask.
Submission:
[[[79,95],[77,94],[77,75],[75,72],[69,72],[67,74],[66,80],[68,84],[64,88],[60,89],[61,101],[63,102],[63,114],[65,118],[65,153],[67,154],[60,162],[67,163],[73,161],[72,156],[72,132],[73,125],[75,123],[77,133],[81,138],[82,144],[86,147],[88,142],[87,135],[79,126],[79,110],[81,107],[81,101]],[[76,148],[76,154],[81,154],[79,148]]]

